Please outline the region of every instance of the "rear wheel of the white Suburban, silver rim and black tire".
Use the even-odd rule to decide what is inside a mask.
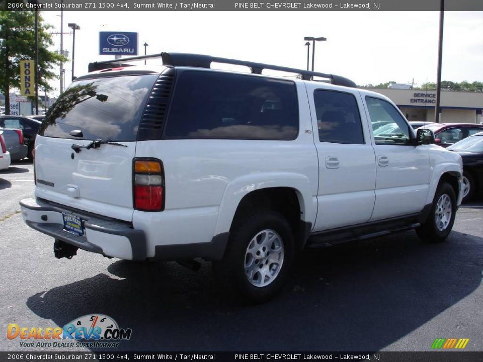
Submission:
[[[294,258],[292,230],[278,212],[260,209],[235,220],[225,256],[213,262],[222,286],[244,302],[274,297],[287,281]]]

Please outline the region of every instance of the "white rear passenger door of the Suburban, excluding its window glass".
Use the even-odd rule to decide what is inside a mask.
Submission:
[[[313,231],[365,223],[374,208],[376,184],[374,150],[365,114],[359,112],[365,144],[320,142],[313,94],[317,89],[334,90],[334,86],[324,83],[306,86],[319,166],[318,212]],[[363,109],[357,89],[338,87],[336,90],[352,94],[359,110]],[[331,162],[337,165],[332,166]]]

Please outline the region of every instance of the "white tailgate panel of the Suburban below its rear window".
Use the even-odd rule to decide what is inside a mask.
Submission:
[[[35,196],[131,221],[132,159],[136,142],[124,142],[127,147],[103,144],[98,149],[83,148],[78,153],[71,148],[72,144],[89,143],[37,136]]]

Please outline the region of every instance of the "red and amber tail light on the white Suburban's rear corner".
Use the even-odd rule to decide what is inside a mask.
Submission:
[[[134,209],[163,211],[165,209],[165,172],[157,159],[134,160],[133,202]]]

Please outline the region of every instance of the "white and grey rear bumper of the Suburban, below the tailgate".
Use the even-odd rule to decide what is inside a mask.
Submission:
[[[129,223],[103,219],[82,211],[72,212],[39,199],[22,200],[20,207],[25,223],[31,228],[79,249],[127,260],[146,259],[144,232],[133,229]],[[64,230],[63,213],[81,217],[83,235],[74,235]]]

